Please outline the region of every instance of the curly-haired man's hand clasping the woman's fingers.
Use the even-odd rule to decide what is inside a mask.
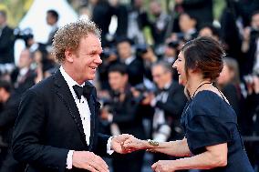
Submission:
[[[132,135],[128,135],[128,134],[123,134],[123,135],[113,137],[111,140],[111,144],[110,144],[111,149],[119,154],[130,153],[131,151],[129,149],[125,149],[125,147],[123,147],[123,145],[127,139],[132,138],[132,137],[133,137]]]

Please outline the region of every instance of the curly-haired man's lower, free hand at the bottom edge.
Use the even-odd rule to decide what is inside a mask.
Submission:
[[[109,172],[106,162],[101,157],[88,151],[74,151],[73,166],[88,169],[91,172]]]

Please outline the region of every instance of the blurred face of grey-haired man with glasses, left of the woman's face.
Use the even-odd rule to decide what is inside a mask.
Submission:
[[[159,88],[163,88],[171,82],[171,73],[166,71],[162,66],[154,66],[152,68],[153,81]]]

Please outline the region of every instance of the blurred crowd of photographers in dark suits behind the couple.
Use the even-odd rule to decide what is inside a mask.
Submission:
[[[82,9],[102,30],[102,64],[93,83],[102,105],[99,118],[103,133],[128,133],[157,141],[182,138],[181,112],[188,100],[171,65],[184,43],[197,36],[212,36],[226,51],[223,71],[214,85],[233,106],[247,154],[254,169],[259,170],[257,0],[225,0],[219,21],[212,15],[212,0],[175,0],[169,12],[159,0],[150,0],[149,5],[143,0],[131,0],[129,4],[116,0],[85,2]],[[52,29],[46,43],[37,43],[30,31],[10,28],[5,11],[0,11],[0,171],[22,166],[12,159],[9,147],[21,95],[59,67],[51,54],[58,13],[48,10],[46,16]],[[114,17],[118,26],[110,34]],[[17,64],[16,39],[26,44]],[[113,170],[140,172],[143,157],[140,151],[115,158]],[[153,154],[154,161],[169,158],[174,157]]]

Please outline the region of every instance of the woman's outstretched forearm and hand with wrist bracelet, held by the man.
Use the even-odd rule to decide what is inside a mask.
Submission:
[[[154,141],[153,141],[154,142]],[[150,152],[161,152],[174,157],[189,157],[191,151],[187,145],[187,139],[176,140],[171,142],[156,142],[156,144],[150,144],[150,141],[140,140],[138,138],[131,138],[125,141],[124,147],[131,151],[148,149]]]

